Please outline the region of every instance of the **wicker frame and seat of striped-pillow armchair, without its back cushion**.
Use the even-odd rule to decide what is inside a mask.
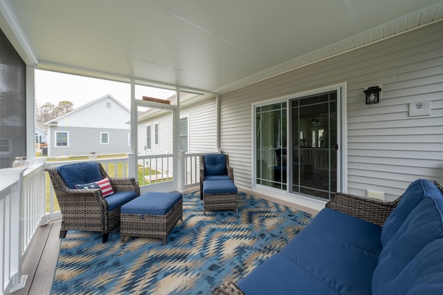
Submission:
[[[84,162],[71,165],[81,165],[91,167],[97,164],[101,178],[109,178],[103,166],[98,162]],[[67,166],[67,165],[64,165]],[[60,238],[66,236],[68,230],[100,231],[102,242],[107,242],[109,230],[120,225],[120,207],[109,210],[107,198],[102,196],[101,189],[73,189],[66,184],[60,174],[60,169],[48,168],[55,195],[62,211],[62,227]],[[98,171],[97,171],[98,173]],[[100,177],[100,176],[99,176]],[[86,181],[86,180],[85,180]],[[114,197],[123,196],[121,202],[127,202],[140,196],[140,188],[134,178],[109,178],[111,187],[114,190]],[[134,191],[134,193],[127,193]],[[114,198],[113,197],[113,198]],[[114,207],[116,204],[114,204]]]

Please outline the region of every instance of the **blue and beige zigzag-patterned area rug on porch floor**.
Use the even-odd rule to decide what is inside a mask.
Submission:
[[[239,280],[309,223],[309,213],[239,193],[239,213],[207,211],[199,191],[183,194],[183,221],[160,239],[68,231],[51,294],[210,294]]]

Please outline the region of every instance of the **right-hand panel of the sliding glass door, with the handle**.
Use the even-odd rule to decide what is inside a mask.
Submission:
[[[289,191],[329,200],[337,190],[337,93],[290,100]]]

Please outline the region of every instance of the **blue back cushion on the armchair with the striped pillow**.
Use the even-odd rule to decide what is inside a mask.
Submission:
[[[70,189],[75,189],[75,184],[96,182],[102,179],[97,162],[67,164],[57,167],[57,170]]]

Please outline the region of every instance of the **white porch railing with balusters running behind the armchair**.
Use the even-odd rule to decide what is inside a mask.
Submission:
[[[180,189],[196,187],[200,182],[200,153],[181,153],[181,185]],[[42,158],[42,160],[44,160]],[[109,176],[128,177],[132,163],[142,160],[143,165],[138,171],[145,180],[145,168],[150,166],[152,180],[168,182],[172,180],[173,158],[168,155],[149,155],[135,158],[129,155],[125,158],[98,159]],[[28,253],[28,246],[33,240],[37,227],[46,225],[49,220],[61,218],[60,209],[56,206],[55,193],[45,167],[57,167],[81,161],[57,161],[33,164],[28,169],[0,169],[0,289],[2,294],[20,289],[26,284],[27,276],[21,274],[21,263]],[[86,160],[87,161],[87,160]],[[148,164],[146,164],[148,163]],[[154,164],[155,163],[155,164]],[[156,171],[159,173],[154,173]],[[164,174],[165,173],[165,174]],[[160,174],[160,175],[158,175]],[[154,181],[146,184],[156,183]],[[143,183],[140,183],[143,185]]]

